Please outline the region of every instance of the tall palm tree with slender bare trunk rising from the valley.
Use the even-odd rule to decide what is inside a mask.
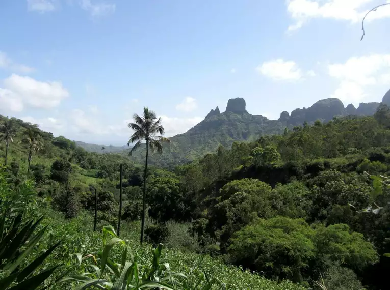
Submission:
[[[130,150],[129,155],[131,156],[134,151],[136,151],[140,146],[142,141],[146,142],[146,159],[145,159],[145,171],[144,171],[144,186],[143,186],[143,198],[142,198],[142,219],[141,219],[141,244],[143,242],[144,237],[144,224],[145,224],[145,200],[146,200],[146,173],[148,169],[148,154],[149,148],[152,152],[157,150],[157,152],[161,153],[163,150],[163,146],[161,142],[171,141],[168,138],[165,138],[164,135],[164,127],[161,125],[161,118],[158,120],[155,113],[152,110],[149,110],[148,107],[144,107],[144,113],[142,117],[138,114],[133,115],[133,119],[135,123],[129,123],[128,127],[134,130],[134,134],[130,137],[127,145],[135,143],[133,148]]]

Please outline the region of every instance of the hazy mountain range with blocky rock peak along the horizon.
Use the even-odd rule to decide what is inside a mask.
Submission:
[[[385,94],[382,103],[390,105],[390,91]],[[253,141],[261,135],[281,134],[286,127],[291,129],[304,122],[308,124],[316,120],[328,122],[333,117],[346,115],[373,115],[379,104],[371,102],[360,103],[357,108],[353,104],[344,107],[339,99],[329,98],[320,100],[308,108],[295,109],[291,114],[283,111],[278,120],[269,120],[262,115],[248,113],[243,98],[229,99],[224,112],[221,113],[218,107],[212,109],[203,121],[186,133],[171,137],[172,143],[164,145],[161,155],[151,155],[150,162],[164,166],[183,164],[215,151],[220,144],[230,147],[234,141]],[[94,147],[93,144],[81,142],[77,144],[86,150],[101,152],[101,146]],[[124,148],[126,147],[112,147],[118,151]],[[128,148],[124,152],[128,152]],[[144,157],[144,150],[138,150],[133,158],[141,161]]]

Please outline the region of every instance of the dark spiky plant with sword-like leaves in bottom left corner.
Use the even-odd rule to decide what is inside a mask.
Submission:
[[[0,208],[2,208],[0,200]],[[23,212],[16,215],[8,207],[4,207],[0,219],[0,290],[38,289],[50,277],[59,265],[35,274],[44,260],[53,252],[60,242],[51,246],[43,254],[25,265],[26,258],[32,254],[35,246],[41,240],[44,227],[35,233],[43,216],[37,220],[23,222]]]

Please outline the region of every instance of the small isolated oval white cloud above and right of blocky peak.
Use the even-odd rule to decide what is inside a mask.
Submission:
[[[258,66],[256,70],[273,80],[296,81],[303,78],[301,69],[294,61],[271,60]]]

